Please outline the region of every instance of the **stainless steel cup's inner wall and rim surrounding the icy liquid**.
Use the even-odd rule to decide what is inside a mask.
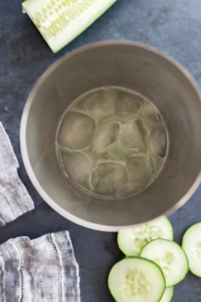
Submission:
[[[62,174],[55,131],[66,107],[100,86],[136,90],[158,107],[168,128],[164,168],[144,191],[130,198],[91,198]],[[178,63],[156,49],[132,42],[92,44],[57,61],[33,88],[24,108],[20,143],[27,173],[48,204],[66,218],[97,230],[116,231],[182,206],[200,183],[201,96]]]

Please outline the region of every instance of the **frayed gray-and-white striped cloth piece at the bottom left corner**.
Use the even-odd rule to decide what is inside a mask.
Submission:
[[[0,302],[79,302],[79,268],[68,231],[0,245]]]

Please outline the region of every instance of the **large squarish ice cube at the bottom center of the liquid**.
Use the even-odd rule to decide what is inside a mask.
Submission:
[[[99,163],[91,175],[95,193],[115,196],[119,187],[128,182],[125,167],[119,163]]]

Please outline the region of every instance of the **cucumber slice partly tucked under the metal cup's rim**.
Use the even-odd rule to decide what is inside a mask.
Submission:
[[[139,226],[120,230],[117,235],[117,243],[126,256],[139,256],[145,244],[157,238],[173,240],[172,225],[165,216]]]

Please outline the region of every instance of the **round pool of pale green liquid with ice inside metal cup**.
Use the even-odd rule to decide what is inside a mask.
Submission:
[[[168,153],[168,132],[153,103],[132,90],[104,87],[77,98],[56,136],[63,172],[92,194],[121,198],[146,188]]]

